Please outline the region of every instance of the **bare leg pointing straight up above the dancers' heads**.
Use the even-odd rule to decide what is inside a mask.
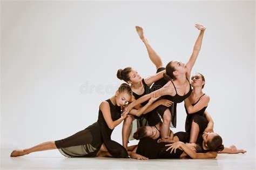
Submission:
[[[160,56],[156,53],[156,51],[154,51],[154,49],[150,46],[147,39],[144,37],[143,28],[140,26],[136,26],[136,31],[139,35],[139,38],[142,39],[142,42],[145,44],[147,53],[149,53],[149,57],[152,63],[156,66],[157,69],[159,67],[163,67],[163,62]]]

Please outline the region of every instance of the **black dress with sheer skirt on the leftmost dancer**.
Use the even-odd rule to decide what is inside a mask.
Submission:
[[[111,100],[106,100],[110,105],[111,118],[113,121],[121,117],[120,107],[113,105]],[[111,140],[112,131],[106,124],[102,111],[99,109],[98,121],[68,138],[57,140],[55,144],[60,153],[66,157],[96,157],[100,147],[104,143],[107,151],[114,158],[127,158],[126,149]]]

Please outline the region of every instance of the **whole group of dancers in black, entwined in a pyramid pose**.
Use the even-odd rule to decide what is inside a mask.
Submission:
[[[16,149],[10,156],[19,157],[49,149],[58,149],[66,157],[130,157],[142,160],[206,159],[216,158],[218,153],[245,153],[234,145],[224,147],[223,139],[213,131],[213,120],[206,111],[210,97],[203,92],[205,77],[201,73],[191,76],[206,30],[203,25],[196,24],[195,27],[200,33],[188,62],[172,60],[164,67],[144,37],[143,29],[136,26],[156,66],[156,74],[142,78],[132,67],[119,69],[117,78],[126,83],[99,105],[96,123],[62,140]],[[183,101],[187,114],[185,132],[173,134],[170,127],[176,127],[176,106]],[[123,145],[120,145],[111,140],[111,134],[122,122]],[[138,145],[127,146],[129,139],[139,140]]]

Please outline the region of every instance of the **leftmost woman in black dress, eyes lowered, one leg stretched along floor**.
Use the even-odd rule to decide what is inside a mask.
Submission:
[[[98,155],[127,158],[126,149],[111,140],[111,133],[129,113],[126,111],[121,114],[121,106],[124,106],[131,96],[131,87],[124,83],[120,85],[114,96],[102,101],[96,123],[62,140],[44,142],[28,149],[17,149],[12,151],[10,156],[19,157],[32,152],[58,149],[66,157],[96,157]],[[97,154],[99,151],[103,153]]]

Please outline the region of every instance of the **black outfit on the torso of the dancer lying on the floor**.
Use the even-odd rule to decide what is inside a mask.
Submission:
[[[166,144],[169,143],[158,143],[156,140],[146,137],[140,139],[136,153],[149,159],[179,159],[183,151],[177,149],[176,153],[170,153],[170,151],[166,151],[169,147],[165,146]]]

